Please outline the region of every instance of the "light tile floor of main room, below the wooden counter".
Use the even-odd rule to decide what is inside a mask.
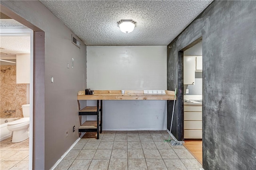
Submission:
[[[104,131],[80,139],[55,170],[199,170],[183,146],[164,143],[166,131]]]

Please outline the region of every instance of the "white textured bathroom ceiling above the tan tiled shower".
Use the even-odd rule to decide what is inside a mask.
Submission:
[[[12,55],[30,53],[30,36],[1,36],[0,47],[2,53]]]

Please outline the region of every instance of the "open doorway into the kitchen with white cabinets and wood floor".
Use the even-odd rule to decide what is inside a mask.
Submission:
[[[202,164],[202,37],[182,49],[184,147]],[[180,80],[179,80],[180,82]]]

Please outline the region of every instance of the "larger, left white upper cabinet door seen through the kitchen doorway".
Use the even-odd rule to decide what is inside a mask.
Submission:
[[[196,57],[184,56],[184,84],[195,83]]]

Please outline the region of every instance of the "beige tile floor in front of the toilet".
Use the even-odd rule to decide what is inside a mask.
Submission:
[[[29,139],[20,143],[11,140],[0,142],[0,170],[28,170]]]

